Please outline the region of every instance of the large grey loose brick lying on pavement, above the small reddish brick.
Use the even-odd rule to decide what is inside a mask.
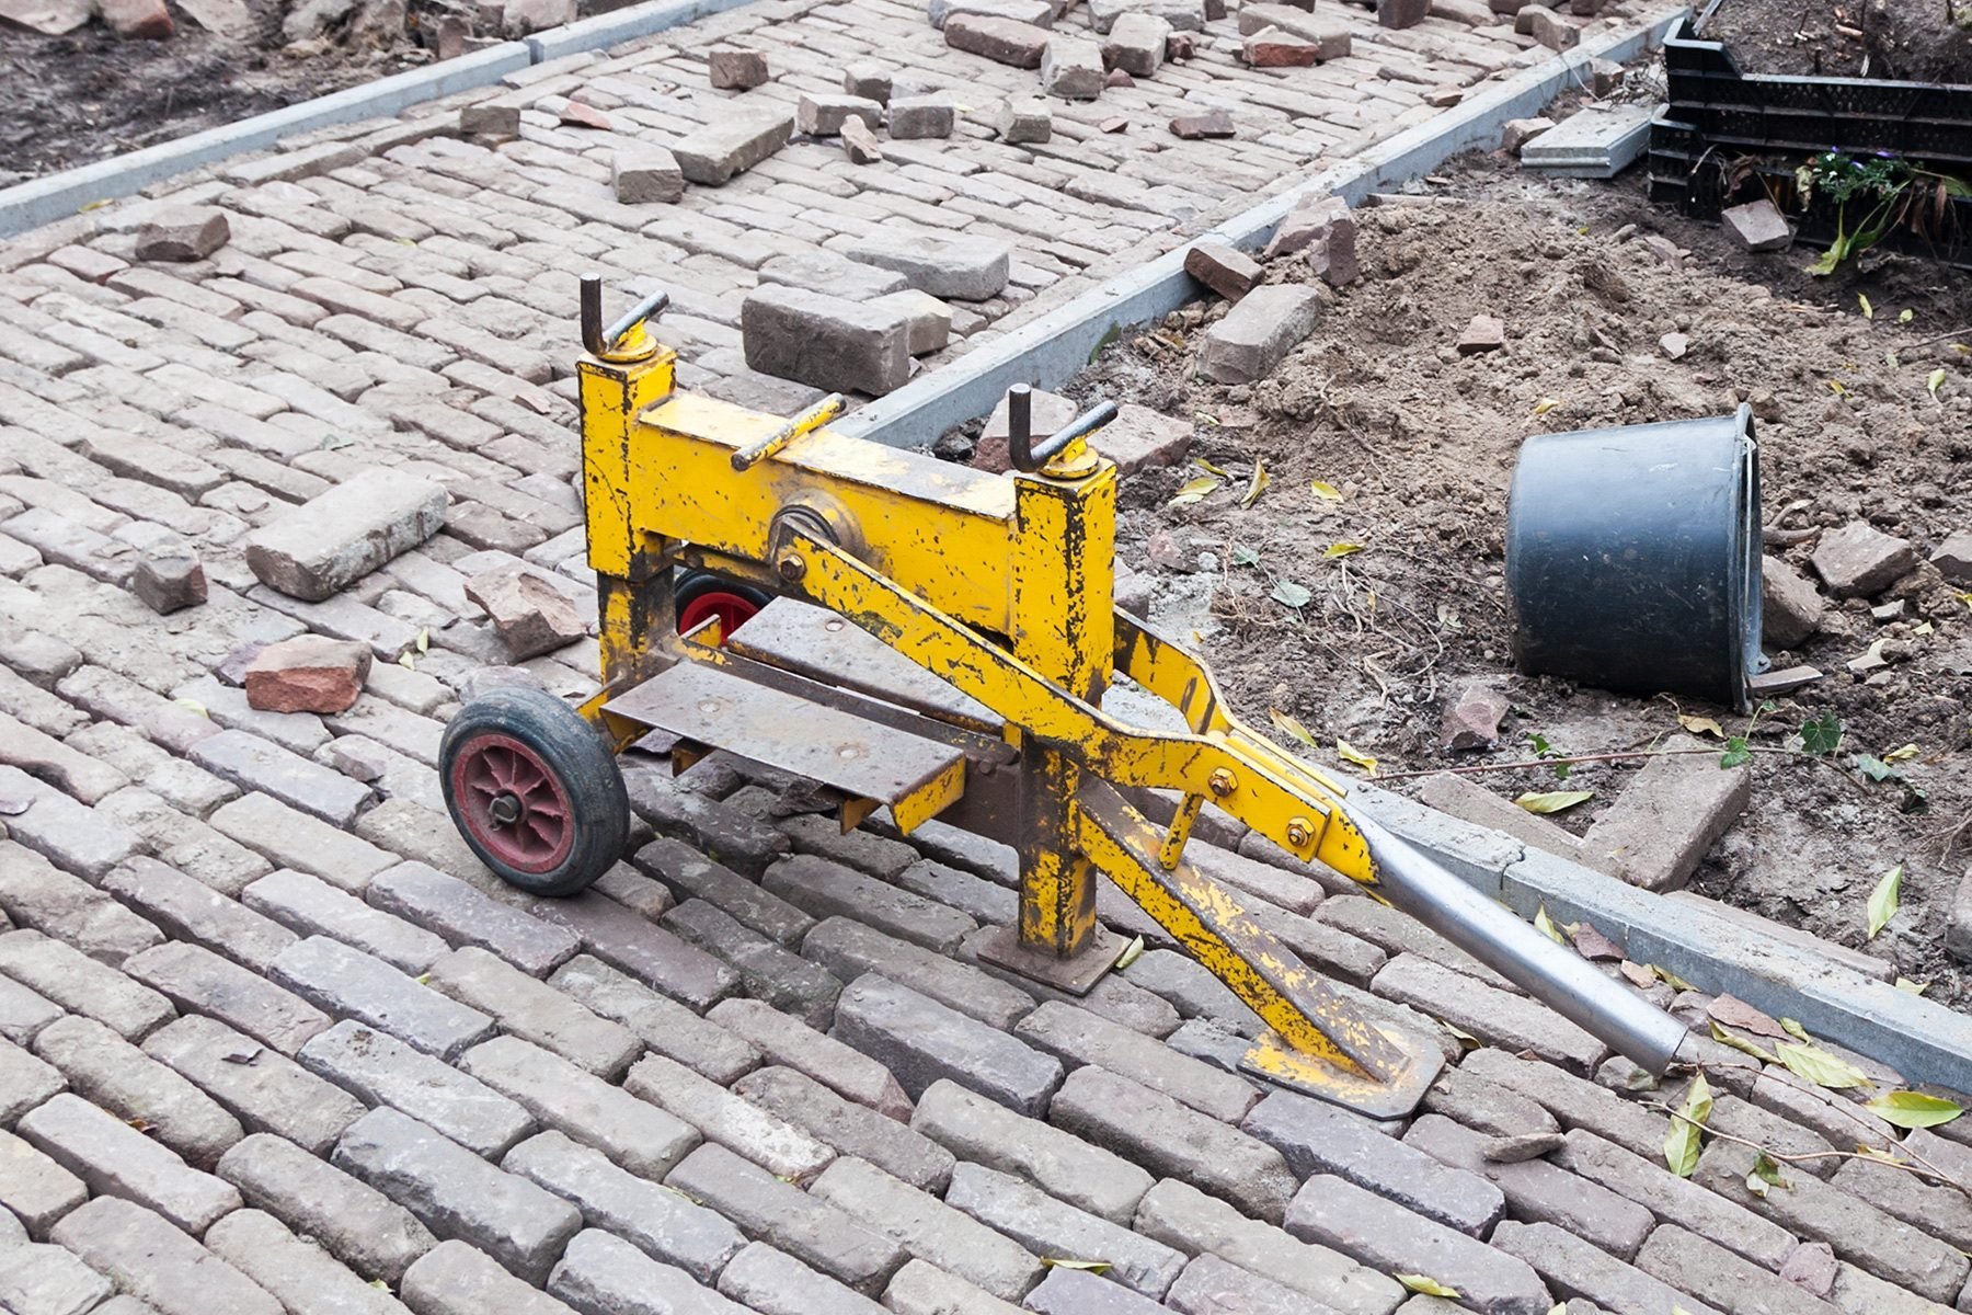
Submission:
[[[246,536],[246,566],[268,588],[312,603],[416,548],[446,522],[446,491],[373,469]]]

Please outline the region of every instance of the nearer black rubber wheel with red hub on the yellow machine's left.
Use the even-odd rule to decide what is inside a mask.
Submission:
[[[438,745],[438,779],[479,862],[530,895],[574,895],[623,858],[623,773],[546,690],[501,686],[465,704]]]

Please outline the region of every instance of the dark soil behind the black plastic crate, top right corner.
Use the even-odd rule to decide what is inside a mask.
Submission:
[[[1747,73],[1972,83],[1966,0],[1722,0],[1698,35]]]

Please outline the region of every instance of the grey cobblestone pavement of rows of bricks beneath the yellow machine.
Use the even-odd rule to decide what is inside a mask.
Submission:
[[[1436,85],[1526,57],[1499,28],[1373,41],[1353,22],[1357,57],[1292,77],[1238,71],[1215,37],[1057,104],[1047,148],[968,130],[852,173],[797,144],[627,215],[556,99],[586,89],[663,138],[706,112],[676,89],[714,39],[787,71],[749,95],[832,89],[872,51],[982,91],[1029,77],[878,0],[757,4],[538,69],[497,150],[448,134],[454,104],[191,181],[233,217],[207,262],[128,264],[124,205],[0,246],[0,1309],[1453,1309],[1396,1274],[1507,1315],[1972,1309],[1964,1197],[1806,1159],[1761,1199],[1753,1151],[1724,1140],[1672,1177],[1647,1102],[1674,1084],[1639,1092],[1444,940],[1229,826],[1201,865],[1457,1061],[1414,1120],[1232,1073],[1256,1019],[1114,889],[1104,921],[1150,950],[1087,1000],[978,964],[1014,917],[1012,854],[941,824],[840,836],[769,773],[639,757],[625,862],[528,901],[444,816],[442,726],[509,664],[465,580],[519,556],[594,617],[568,485],[578,268],[663,270],[692,382],[785,408],[801,390],[747,375],[734,329],[773,254],[891,225],[1012,233],[1016,282],[976,343],[1016,302],[1422,116],[1428,83],[1378,69]],[[1240,140],[1150,130],[1213,103]],[[1114,112],[1130,132],[1091,126]],[[379,465],[442,483],[446,530],[327,601],[256,582],[248,528]],[[128,586],[174,544],[209,599],[160,617]],[[250,710],[248,655],[304,631],[373,649],[361,700]],[[521,666],[586,694],[596,647]],[[1787,1153],[1895,1136],[1716,1061],[1722,1132]],[[1958,1124],[1907,1145],[1972,1177]]]

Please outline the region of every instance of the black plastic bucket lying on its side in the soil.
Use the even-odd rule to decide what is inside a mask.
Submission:
[[[1514,662],[1743,712],[1763,662],[1759,550],[1749,406],[1534,436],[1507,501]]]

